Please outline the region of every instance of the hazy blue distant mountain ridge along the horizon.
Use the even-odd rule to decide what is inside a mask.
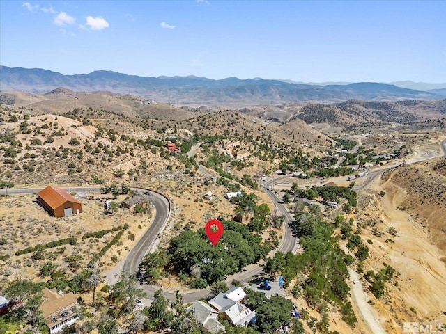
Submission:
[[[0,90],[47,93],[56,88],[77,92],[96,90],[132,94],[174,104],[252,105],[294,101],[343,102],[346,100],[440,100],[442,95],[389,84],[309,85],[272,79],[221,80],[206,77],[139,77],[98,70],[63,75],[43,69],[0,66]],[[440,92],[442,93],[442,92]]]

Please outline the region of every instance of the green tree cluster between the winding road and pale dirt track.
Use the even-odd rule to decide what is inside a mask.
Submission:
[[[349,287],[347,264],[354,262],[339,247],[332,224],[325,221],[320,207],[303,205],[295,207],[295,231],[301,236],[304,253],[277,253],[266,262],[266,270],[281,271],[285,282],[298,278],[292,291],[295,296],[303,294],[307,303],[327,317],[328,303],[338,305],[342,319],[353,326],[357,321],[351,303],[348,302]],[[328,318],[327,318],[328,319]],[[327,333],[328,322],[318,324],[319,331]]]

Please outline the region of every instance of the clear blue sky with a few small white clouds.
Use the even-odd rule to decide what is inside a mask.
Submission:
[[[62,74],[446,82],[446,1],[0,0],[0,64]]]

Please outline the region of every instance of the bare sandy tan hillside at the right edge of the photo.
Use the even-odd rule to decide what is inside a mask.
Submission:
[[[358,221],[371,255],[364,273],[384,264],[396,271],[385,296],[369,294],[390,333],[403,333],[406,321],[446,321],[445,166],[438,158],[397,168],[360,193]]]

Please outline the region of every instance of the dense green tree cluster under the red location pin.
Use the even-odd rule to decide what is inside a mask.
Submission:
[[[249,232],[245,225],[233,221],[222,224],[224,234],[216,246],[210,244],[203,229],[185,230],[169,241],[167,254],[160,252],[144,258],[139,266],[141,275],[153,282],[171,268],[180,278],[192,276],[192,287],[203,288],[240,272],[268,253],[270,248],[261,244],[261,237]]]

